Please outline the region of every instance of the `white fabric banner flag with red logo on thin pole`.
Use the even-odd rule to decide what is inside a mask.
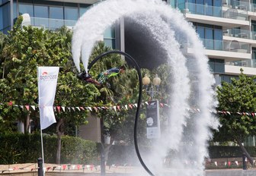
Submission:
[[[53,102],[56,93],[56,86],[59,74],[59,67],[38,67],[38,97],[40,111],[40,127],[45,129],[56,123],[53,112]]]

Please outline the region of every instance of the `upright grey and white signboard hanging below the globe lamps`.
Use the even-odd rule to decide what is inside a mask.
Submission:
[[[159,138],[160,121],[159,121],[159,103],[158,100],[149,102],[146,107],[146,125],[147,125],[147,138]]]

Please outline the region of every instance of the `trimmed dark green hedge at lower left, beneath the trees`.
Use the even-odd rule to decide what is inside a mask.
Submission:
[[[0,165],[34,163],[41,156],[40,134],[0,134]],[[43,135],[46,163],[56,163],[57,137]],[[96,164],[97,143],[78,137],[62,136],[61,163]]]

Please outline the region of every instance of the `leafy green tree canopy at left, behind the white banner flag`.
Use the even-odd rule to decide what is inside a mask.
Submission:
[[[5,45],[0,57],[0,131],[11,131],[14,121],[25,121],[30,115],[38,120],[38,112],[27,112],[8,105],[37,105],[37,67],[59,66],[55,105],[85,106],[94,105],[98,90],[78,80],[72,61],[72,31],[62,27],[56,31],[34,27],[21,28],[22,17],[18,17],[13,30],[5,36]],[[84,124],[86,112],[62,112],[56,115],[57,121]],[[2,119],[2,121],[1,121]],[[62,128],[63,130],[65,127]]]

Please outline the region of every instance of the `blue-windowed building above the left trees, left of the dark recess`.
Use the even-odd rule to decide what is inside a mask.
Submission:
[[[63,25],[72,28],[97,0],[46,1],[46,0],[0,0],[0,31],[11,30],[17,17],[29,14],[30,24],[34,27],[56,30]],[[104,33],[107,46],[116,47],[114,27]]]

